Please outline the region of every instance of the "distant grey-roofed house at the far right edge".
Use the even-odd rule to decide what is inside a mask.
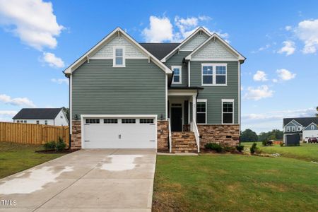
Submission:
[[[284,143],[299,138],[306,141],[311,137],[318,139],[318,117],[288,118],[283,119]]]

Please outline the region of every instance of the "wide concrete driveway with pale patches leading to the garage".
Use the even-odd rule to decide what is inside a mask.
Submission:
[[[155,156],[76,151],[0,179],[0,211],[151,211]]]

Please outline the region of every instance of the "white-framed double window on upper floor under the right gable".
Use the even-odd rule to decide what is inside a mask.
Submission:
[[[202,64],[202,86],[226,86],[226,64]]]

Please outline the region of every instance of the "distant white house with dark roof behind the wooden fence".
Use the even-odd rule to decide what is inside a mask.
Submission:
[[[69,120],[62,108],[23,108],[14,117],[14,123],[68,126]]]

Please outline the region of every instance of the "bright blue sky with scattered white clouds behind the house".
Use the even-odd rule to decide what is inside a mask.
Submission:
[[[176,42],[198,26],[242,64],[242,129],[281,129],[318,106],[318,1],[0,0],[0,120],[22,107],[68,106],[61,71],[117,26],[139,42]]]

